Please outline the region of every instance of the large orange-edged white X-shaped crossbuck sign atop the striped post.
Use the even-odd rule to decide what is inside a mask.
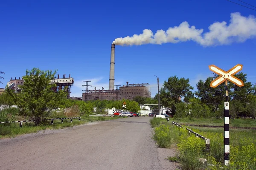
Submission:
[[[231,68],[229,71],[224,71],[215,65],[209,65],[209,69],[220,76],[217,79],[212,80],[210,87],[215,88],[226,80],[233,82],[235,85],[239,87],[244,86],[244,82],[241,79],[238,79],[235,76],[233,76],[234,74],[241,71],[242,68],[243,65],[238,64],[235,67]]]

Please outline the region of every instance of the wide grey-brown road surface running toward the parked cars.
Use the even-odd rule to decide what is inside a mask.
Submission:
[[[175,170],[150,117],[93,122],[0,140],[0,170]]]

